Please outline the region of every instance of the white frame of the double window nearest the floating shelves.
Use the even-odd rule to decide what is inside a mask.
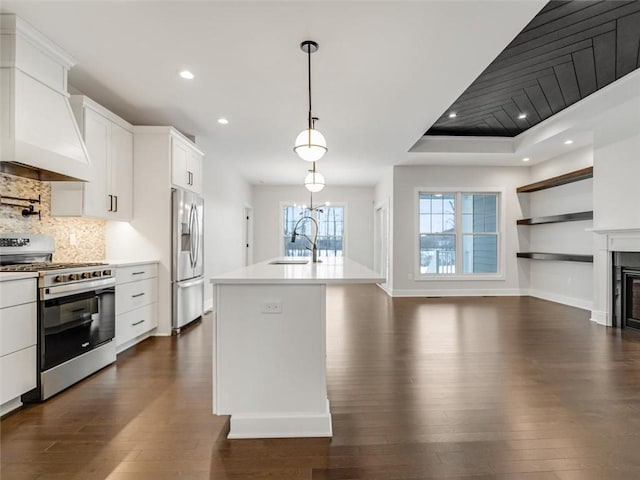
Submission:
[[[456,201],[455,209],[455,225],[456,225],[456,272],[460,273],[421,273],[420,272],[420,194],[453,194]],[[496,202],[498,221],[497,227],[497,246],[498,252],[496,260],[498,268],[496,273],[462,273],[462,242],[465,233],[462,230],[462,195],[479,194],[484,195],[493,193],[498,195]],[[498,187],[417,187],[413,196],[413,278],[416,281],[483,281],[483,280],[504,280],[505,277],[505,258],[506,258],[506,242],[505,242],[505,225],[506,225],[506,203],[505,189]],[[467,233],[469,235],[469,233]]]

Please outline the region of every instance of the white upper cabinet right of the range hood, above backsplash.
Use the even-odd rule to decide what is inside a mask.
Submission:
[[[52,182],[51,214],[131,220],[132,126],[84,95],[72,95],[71,106],[89,153],[94,181]]]

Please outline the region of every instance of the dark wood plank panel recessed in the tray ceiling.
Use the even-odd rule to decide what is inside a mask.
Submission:
[[[639,66],[640,0],[551,1],[426,134],[515,136]]]

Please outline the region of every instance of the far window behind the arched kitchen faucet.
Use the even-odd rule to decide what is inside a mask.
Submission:
[[[298,225],[295,242],[291,242],[293,229],[304,215],[311,215],[318,222],[318,256],[344,256],[344,207],[324,206],[320,210],[309,212],[308,208],[300,205],[285,205],[283,207],[283,253],[285,256],[311,256],[311,243],[305,235],[313,239],[315,233],[313,222],[303,220]]]

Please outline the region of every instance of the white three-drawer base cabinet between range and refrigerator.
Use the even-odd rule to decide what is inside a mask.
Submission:
[[[158,326],[158,264],[116,268],[116,351],[149,337]]]

